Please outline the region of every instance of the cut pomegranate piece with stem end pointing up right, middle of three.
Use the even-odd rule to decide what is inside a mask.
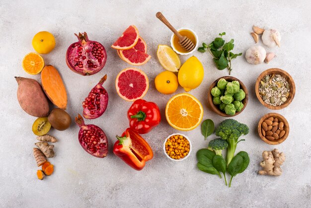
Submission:
[[[95,87],[89,92],[87,98],[82,103],[83,117],[87,119],[94,119],[101,116],[108,105],[108,93],[102,84],[106,81],[107,75],[105,75],[98,82]]]

